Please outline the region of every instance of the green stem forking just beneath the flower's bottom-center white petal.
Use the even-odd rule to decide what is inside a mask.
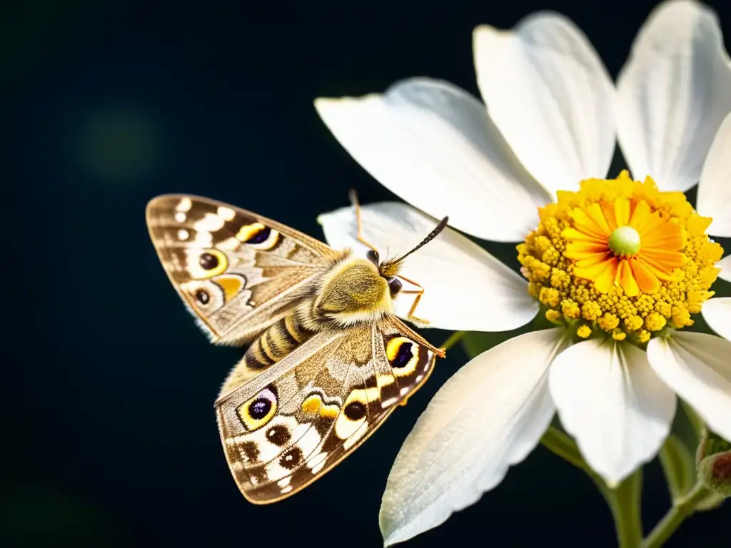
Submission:
[[[599,492],[612,511],[614,527],[621,548],[637,548],[642,542],[642,520],[640,518],[640,497],[642,495],[642,471],[638,470],[615,489],[610,489],[604,480],[583,459],[578,447],[568,435],[550,426],[541,438],[541,443],[568,463],[580,468],[594,481]]]

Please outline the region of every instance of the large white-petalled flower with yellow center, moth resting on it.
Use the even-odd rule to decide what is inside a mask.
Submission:
[[[731,64],[710,9],[686,0],[657,7],[616,88],[586,37],[555,13],[532,15],[512,31],[476,28],[474,63],[487,110],[460,88],[425,78],[397,83],[385,94],[317,99],[319,115],[349,153],[425,212],[395,203],[363,208],[366,239],[376,246],[404,250],[444,215],[476,237],[523,240],[536,230],[537,206],[556,200],[557,191],[577,191],[582,180],[606,176],[615,137],[635,177],[652,176],[661,191],[686,191],[700,180],[698,212],[713,218],[711,234],[731,237]],[[436,527],[476,502],[536,446],[556,410],[587,462],[610,484],[654,457],[670,430],[676,394],[731,438],[731,299],[711,299],[702,308],[726,339],[687,330],[657,336],[667,335],[666,321],[689,324],[688,313],[708,297],[699,272],[713,269],[720,255],[706,263],[717,248],[692,249],[697,224],[690,229],[687,223],[698,218],[692,210],[678,213],[689,239],[682,229],[664,238],[672,227],[656,225],[667,221],[668,211],[677,213],[680,202],[667,208],[653,202],[652,209],[665,209],[650,227],[649,210],[640,214],[635,207],[649,186],[624,173],[615,184],[602,188],[640,194],[629,199],[618,191],[599,221],[590,206],[558,199],[564,221],[572,216],[566,222],[577,229],[545,240],[564,238],[559,259],[555,248],[541,256],[545,242],[526,243],[521,262],[531,288],[542,288],[537,297],[564,327],[496,346],[439,390],[390,473],[381,509],[386,544]],[[589,191],[581,188],[585,199]],[[358,247],[351,208],[322,215],[320,222],[331,245]],[[618,251],[625,249],[621,253],[629,255]],[[563,256],[569,251],[580,257],[572,275]],[[683,266],[686,278],[678,283],[688,297],[678,304],[654,291],[658,283],[671,283],[683,254],[698,268]],[[425,286],[417,315],[433,327],[508,330],[537,311],[526,283],[452,230],[413,257],[404,274]],[[558,265],[549,269],[558,277],[540,281],[539,269],[548,264]],[[731,258],[719,266],[721,278],[731,281]],[[569,289],[586,287],[579,278],[594,283],[586,310],[578,306],[586,295],[567,297]],[[607,305],[599,299],[602,280],[607,291],[620,286],[620,296],[655,294],[656,300]],[[564,293],[553,294],[552,286]],[[397,311],[404,315],[409,304],[399,303]],[[603,315],[592,316],[595,305]],[[625,316],[610,313],[617,306],[626,306]],[[603,336],[571,344],[591,330]]]

